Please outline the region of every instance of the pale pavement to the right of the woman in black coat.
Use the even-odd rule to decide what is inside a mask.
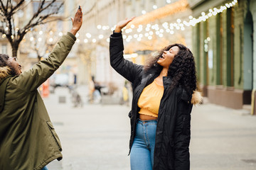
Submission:
[[[256,116],[210,103],[191,113],[191,169],[256,169]]]

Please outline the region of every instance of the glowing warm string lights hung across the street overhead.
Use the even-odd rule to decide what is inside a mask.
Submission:
[[[237,0],[230,1],[229,3],[226,3],[223,6],[220,7],[214,7],[209,8],[208,11],[203,11],[201,13],[201,16],[198,16],[198,18],[195,18],[193,16],[188,16],[188,20],[181,20],[181,18],[177,18],[176,22],[174,23],[167,23],[164,22],[160,26],[158,24],[151,24],[151,22],[156,21],[156,19],[164,18],[166,16],[170,16],[174,13],[185,11],[188,9],[188,2],[187,0],[179,0],[172,4],[170,0],[166,0],[167,5],[158,8],[156,5],[153,6],[155,9],[154,11],[151,11],[149,13],[146,13],[146,11],[142,11],[142,16],[138,16],[137,18],[134,18],[134,20],[129,23],[126,27],[124,27],[123,32],[123,38],[126,39],[127,42],[131,41],[132,39],[135,40],[142,40],[142,38],[147,38],[151,40],[153,38],[153,35],[159,36],[159,38],[164,37],[164,33],[169,33],[171,35],[174,34],[175,30],[186,30],[186,27],[190,26],[196,26],[197,23],[200,23],[202,21],[206,21],[208,18],[212,16],[216,16],[218,13],[222,13],[227,8],[231,8],[232,6],[235,6],[235,4],[238,3]],[[97,25],[98,30],[114,30],[115,26],[110,28],[110,26],[102,26]],[[5,28],[5,30],[9,30],[8,27]],[[18,28],[16,28],[16,31],[18,31]],[[28,32],[28,30],[26,30]],[[126,35],[127,34],[127,35]],[[132,35],[129,35],[132,34]],[[43,35],[43,31],[39,31],[39,35]],[[53,31],[50,31],[50,35],[53,35]],[[63,33],[58,33],[59,36],[62,36]],[[75,35],[77,38],[79,37],[79,34]],[[95,35],[94,35],[95,36]],[[85,39],[83,40],[85,43],[87,42],[97,42],[97,39],[102,40],[104,38],[104,34],[97,35],[97,37],[92,37],[91,33],[85,34]],[[6,38],[6,35],[3,34],[2,38]],[[107,42],[109,38],[105,38]],[[31,40],[32,41],[32,40]],[[53,41],[52,38],[49,39],[50,42]],[[79,41],[77,41],[79,42]]]

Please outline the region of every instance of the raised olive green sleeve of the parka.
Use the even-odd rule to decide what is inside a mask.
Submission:
[[[73,44],[75,43],[75,36],[72,33],[63,35],[62,38],[55,45],[50,55],[45,60],[33,65],[27,72],[21,73],[14,81],[19,89],[24,91],[34,91],[43,84],[57,69],[60,67],[68,56]]]

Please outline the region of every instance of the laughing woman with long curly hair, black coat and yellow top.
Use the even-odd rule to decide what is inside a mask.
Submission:
[[[201,102],[192,52],[181,44],[169,45],[146,66],[124,60],[122,28],[133,18],[117,23],[110,36],[110,64],[132,83],[132,170],[188,170],[191,110]]]

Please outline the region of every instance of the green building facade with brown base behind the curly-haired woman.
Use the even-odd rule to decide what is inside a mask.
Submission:
[[[241,109],[252,105],[256,88],[256,1],[190,1],[193,54],[203,95],[211,103]]]

